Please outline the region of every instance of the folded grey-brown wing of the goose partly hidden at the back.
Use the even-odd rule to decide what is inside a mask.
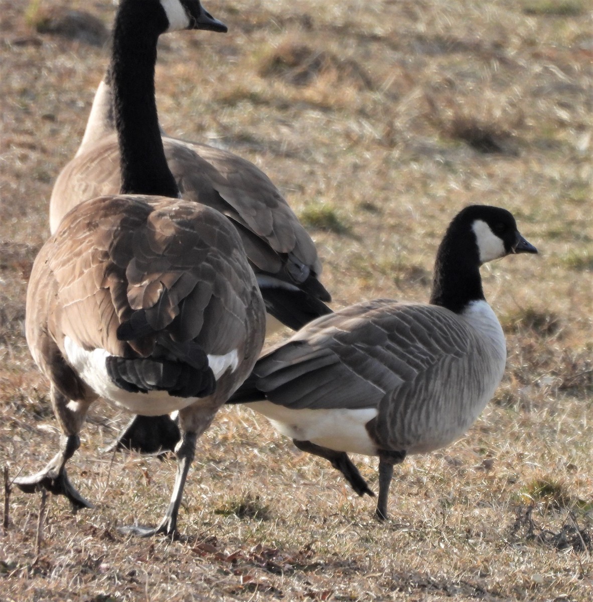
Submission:
[[[237,228],[268,311],[293,328],[329,313],[323,302],[331,296],[318,280],[321,262],[315,244],[272,181],[231,153],[164,141],[182,197],[217,209]]]

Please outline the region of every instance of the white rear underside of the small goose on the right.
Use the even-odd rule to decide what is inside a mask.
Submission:
[[[375,408],[296,410],[268,401],[246,406],[263,414],[276,430],[291,439],[311,441],[337,452],[377,455],[377,446],[365,429],[365,424],[377,415]]]

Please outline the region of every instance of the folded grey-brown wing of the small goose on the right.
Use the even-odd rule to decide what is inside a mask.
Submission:
[[[361,303],[265,353],[250,380],[270,402],[293,409],[377,407],[444,358],[466,355],[468,335],[436,306]]]

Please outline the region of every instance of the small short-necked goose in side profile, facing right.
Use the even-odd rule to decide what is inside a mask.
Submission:
[[[328,459],[359,495],[374,493],[347,452],[378,456],[384,520],[394,464],[458,439],[500,383],[505,337],[479,268],[511,253],[537,253],[511,213],[462,209],[439,246],[429,303],[377,299],[320,317],[264,352],[228,403]]]

